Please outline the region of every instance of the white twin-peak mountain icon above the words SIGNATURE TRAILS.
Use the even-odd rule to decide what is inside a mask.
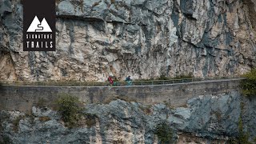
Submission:
[[[52,30],[50,29],[48,22],[46,22],[46,18],[43,18],[42,22],[40,22],[38,17],[35,16],[26,32],[52,32]]]

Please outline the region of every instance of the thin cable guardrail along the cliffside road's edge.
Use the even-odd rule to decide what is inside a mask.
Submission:
[[[203,78],[181,78],[181,79],[168,79],[168,80],[143,80],[128,82],[114,82],[113,85],[110,82],[63,82],[63,81],[1,81],[2,85],[6,86],[154,86],[154,85],[169,85],[186,82],[202,82],[207,80],[219,80],[241,77],[203,77]]]

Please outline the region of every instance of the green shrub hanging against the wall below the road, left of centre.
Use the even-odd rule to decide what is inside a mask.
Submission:
[[[77,126],[78,120],[81,118],[82,114],[79,99],[69,94],[62,94],[57,100],[57,105],[57,109],[62,115],[63,122],[66,122],[66,126]]]

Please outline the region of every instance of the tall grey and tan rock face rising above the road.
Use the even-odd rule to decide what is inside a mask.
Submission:
[[[56,52],[22,51],[22,3],[0,2],[0,78],[105,81],[243,74],[255,66],[250,0],[61,0]]]

